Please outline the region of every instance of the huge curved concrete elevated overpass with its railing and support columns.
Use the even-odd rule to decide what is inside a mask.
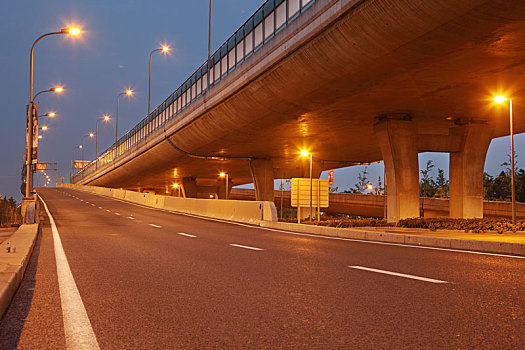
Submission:
[[[450,153],[450,216],[483,215],[482,172],[508,106],[523,115],[525,2],[271,0],[72,182],[189,197],[385,161],[389,220],[419,215],[418,152]],[[515,131],[525,121],[515,119]],[[221,187],[222,186],[222,187]],[[229,190],[229,189],[228,189]]]

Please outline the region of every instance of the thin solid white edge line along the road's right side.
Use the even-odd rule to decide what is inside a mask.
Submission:
[[[79,192],[84,193],[83,191],[80,191],[80,190],[73,190],[73,191],[79,191]],[[452,252],[452,253],[464,253],[464,254],[474,254],[474,255],[498,256],[498,257],[512,258],[512,259],[525,259],[525,256],[520,256],[520,255],[479,252],[479,251],[475,251],[475,250],[462,250],[462,249],[452,249],[452,248],[438,248],[438,247],[430,247],[430,246],[424,246],[424,245],[413,245],[413,244],[405,244],[405,243],[367,241],[367,240],[364,240],[364,239],[357,239],[357,238],[333,237],[333,236],[316,235],[316,234],[313,234],[313,233],[286,231],[286,230],[280,230],[280,229],[276,229],[276,228],[255,226],[255,225],[243,224],[243,223],[240,223],[240,222],[226,221],[226,220],[215,219],[215,218],[210,218],[210,217],[206,217],[206,216],[200,216],[200,215],[189,214],[189,213],[182,213],[182,212],[177,212],[177,211],[173,211],[173,210],[147,207],[147,206],[142,205],[142,204],[126,202],[125,200],[122,200],[122,199],[113,198],[113,197],[109,197],[109,196],[104,196],[104,195],[97,194],[97,193],[90,193],[90,194],[92,194],[94,196],[106,198],[106,199],[111,199],[111,200],[114,200],[116,202],[122,202],[122,203],[126,203],[128,205],[133,205],[133,206],[136,206],[136,207],[144,208],[144,209],[149,209],[149,210],[154,210],[154,211],[162,211],[162,212],[165,212],[165,213],[170,213],[170,214],[175,214],[175,215],[189,216],[189,217],[192,217],[192,218],[198,218],[198,219],[207,220],[207,221],[222,222],[224,224],[229,224],[229,225],[250,227],[250,228],[253,228],[253,229],[257,229],[257,230],[280,232],[280,233],[285,233],[285,234],[288,234],[288,235],[312,237],[312,238],[319,238],[319,239],[328,239],[328,240],[334,240],[334,241],[358,242],[358,243],[366,243],[366,244],[386,245],[386,246],[402,247],[402,248],[415,248],[415,249],[437,250],[437,251]]]

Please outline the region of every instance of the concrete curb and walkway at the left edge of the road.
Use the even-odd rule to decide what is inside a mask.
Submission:
[[[9,307],[31,258],[38,235],[38,224],[22,225],[0,244],[0,318]],[[7,247],[16,251],[7,252]]]

